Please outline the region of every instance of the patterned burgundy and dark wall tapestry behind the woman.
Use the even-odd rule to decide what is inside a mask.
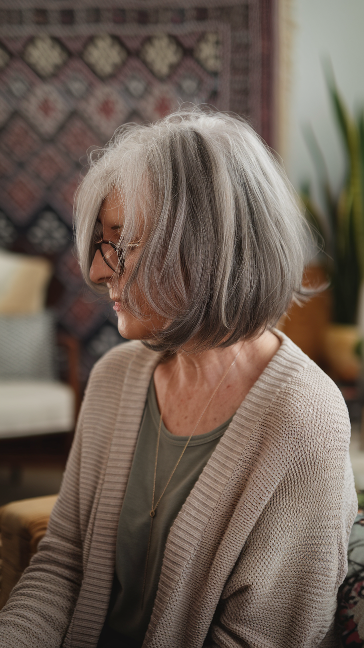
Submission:
[[[86,150],[181,101],[246,115],[271,142],[273,2],[198,5],[1,3],[0,245],[53,261],[49,303],[58,326],[81,341],[82,382],[120,340],[114,312],[84,288],[73,251]]]

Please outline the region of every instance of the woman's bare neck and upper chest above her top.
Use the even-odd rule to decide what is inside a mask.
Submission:
[[[200,353],[178,352],[156,367],[154,385],[158,406],[167,429],[189,435],[215,388],[195,434],[204,434],[232,416],[280,346],[280,340],[265,332],[254,340],[209,349]],[[234,359],[236,361],[234,362]]]

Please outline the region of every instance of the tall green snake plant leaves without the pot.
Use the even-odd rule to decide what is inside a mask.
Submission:
[[[346,173],[337,198],[330,187],[315,133],[306,127],[304,139],[324,197],[324,214],[312,200],[307,183],[302,189],[302,199],[309,222],[324,237],[330,251],[335,321],[352,324],[356,321],[359,288],[364,279],[364,110],[354,119],[337,89],[330,64],[324,65],[324,75],[343,143]]]

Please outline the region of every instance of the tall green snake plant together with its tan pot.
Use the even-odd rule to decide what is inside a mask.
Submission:
[[[332,191],[324,156],[311,128],[304,131],[322,194],[323,209],[313,200],[309,183],[302,198],[309,220],[324,240],[333,323],[326,332],[325,351],[333,377],[348,382],[360,371],[360,334],[357,326],[359,296],[364,279],[364,108],[357,117],[348,110],[329,66],[326,84],[341,134],[345,154],[345,178],[337,194]]]

